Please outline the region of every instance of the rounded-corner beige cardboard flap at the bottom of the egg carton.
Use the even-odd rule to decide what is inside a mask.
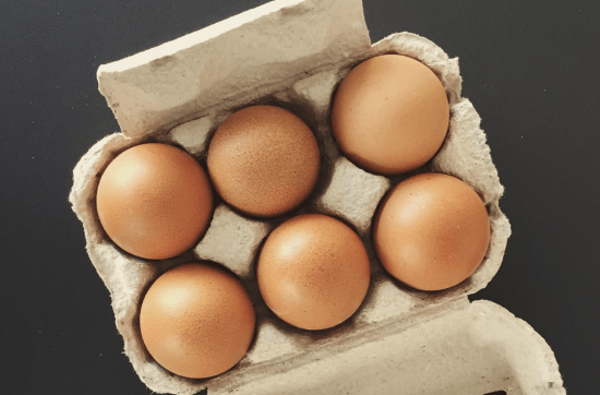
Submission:
[[[526,322],[466,300],[332,344],[310,361],[264,363],[215,379],[215,394],[565,394],[554,355]]]

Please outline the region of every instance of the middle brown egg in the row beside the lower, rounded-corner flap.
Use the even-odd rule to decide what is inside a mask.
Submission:
[[[352,315],[367,295],[370,273],[358,235],[321,214],[299,215],[277,227],[256,267],[266,304],[304,330],[332,327]]]

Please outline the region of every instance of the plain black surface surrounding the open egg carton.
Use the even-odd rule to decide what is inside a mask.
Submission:
[[[151,394],[67,201],[72,169],[118,131],[99,64],[264,1],[0,0],[0,392]],[[600,20],[596,1],[364,0],[372,41],[401,31],[460,58],[513,226],[472,299],[527,321],[571,394],[600,373]]]

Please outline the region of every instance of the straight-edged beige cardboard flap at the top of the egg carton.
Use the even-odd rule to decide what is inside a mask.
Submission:
[[[248,103],[264,84],[305,76],[370,46],[361,0],[277,0],[103,64],[97,77],[122,132],[136,136],[225,100]]]

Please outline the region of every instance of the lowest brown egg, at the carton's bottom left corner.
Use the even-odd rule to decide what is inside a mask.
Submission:
[[[255,320],[238,278],[214,264],[190,263],[152,285],[142,302],[140,330],[163,368],[204,379],[231,369],[245,355]]]

